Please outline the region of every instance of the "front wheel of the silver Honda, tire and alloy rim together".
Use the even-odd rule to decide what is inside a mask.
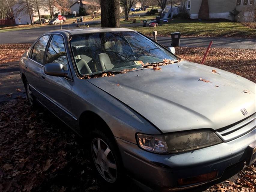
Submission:
[[[118,185],[122,178],[122,163],[114,139],[100,130],[92,131],[90,155],[100,179],[110,186]]]

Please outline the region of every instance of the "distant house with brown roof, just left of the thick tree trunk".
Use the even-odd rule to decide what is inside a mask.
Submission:
[[[88,15],[101,12],[101,5],[96,2],[82,1],[82,3],[83,3],[83,8],[85,9]],[[76,11],[76,13],[79,13],[79,7],[80,7],[80,1],[74,2],[70,6],[71,13],[74,13],[74,11]]]

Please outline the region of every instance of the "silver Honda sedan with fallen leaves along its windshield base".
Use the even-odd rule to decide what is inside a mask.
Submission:
[[[255,161],[256,86],[182,61],[124,28],[49,32],[20,60],[31,105],[84,137],[99,178],[161,191],[211,185]]]

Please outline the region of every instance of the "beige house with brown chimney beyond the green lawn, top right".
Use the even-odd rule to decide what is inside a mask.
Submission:
[[[182,0],[180,12],[186,10],[191,19],[198,18],[201,3],[202,0]],[[236,7],[237,10],[241,11],[238,15],[239,22],[252,21],[254,19],[255,4],[256,0],[208,0],[209,19],[232,20],[229,12]]]

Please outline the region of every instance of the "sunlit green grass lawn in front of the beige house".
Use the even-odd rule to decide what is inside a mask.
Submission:
[[[142,18],[142,17],[141,17]],[[145,17],[146,18],[146,17]],[[172,32],[181,32],[182,36],[209,36],[209,37],[243,37],[255,38],[256,30],[235,22],[199,21],[195,19],[173,19],[156,28],[128,27],[145,35],[170,35]]]

